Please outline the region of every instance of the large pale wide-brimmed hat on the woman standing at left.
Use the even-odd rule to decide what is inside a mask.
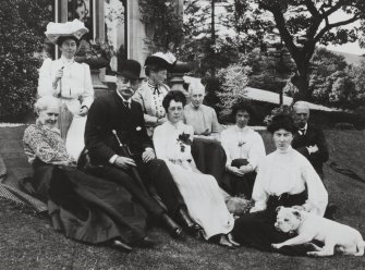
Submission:
[[[57,40],[60,37],[69,36],[75,37],[80,40],[86,33],[88,33],[88,29],[85,27],[84,23],[77,19],[66,23],[50,22],[47,24],[47,30],[45,32],[46,37],[52,44],[57,44]]]

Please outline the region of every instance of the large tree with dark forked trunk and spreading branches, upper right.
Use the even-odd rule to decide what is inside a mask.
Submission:
[[[235,7],[244,14],[247,7],[256,7],[254,12],[267,11],[275,22],[280,38],[285,44],[297,75],[292,79],[299,88],[295,99],[311,100],[308,78],[311,59],[318,44],[345,44],[358,38],[358,28],[344,26],[365,19],[363,0],[234,0]],[[248,3],[250,2],[250,3]],[[245,4],[243,4],[245,3]],[[331,15],[342,12],[340,21]]]

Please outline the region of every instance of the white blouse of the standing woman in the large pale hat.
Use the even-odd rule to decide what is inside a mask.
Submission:
[[[56,72],[62,66],[64,66],[63,77],[58,82],[57,88],[53,89],[52,82]],[[39,69],[38,95],[40,97],[58,97],[59,94],[72,113],[78,113],[83,106],[89,109],[94,101],[89,66],[63,57],[54,61],[49,58],[46,59]]]

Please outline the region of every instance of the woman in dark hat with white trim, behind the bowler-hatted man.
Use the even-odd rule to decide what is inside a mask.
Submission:
[[[162,100],[170,91],[170,87],[165,82],[168,71],[175,62],[177,59],[171,52],[157,52],[146,59],[145,73],[148,78],[133,96],[133,99],[143,107],[149,136],[153,135],[155,126],[167,121]]]

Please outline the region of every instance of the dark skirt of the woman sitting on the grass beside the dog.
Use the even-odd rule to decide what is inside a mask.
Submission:
[[[252,246],[264,251],[275,251],[271,247],[273,243],[284,242],[293,235],[279,232],[275,228],[276,222],[276,208],[278,206],[291,207],[295,205],[303,205],[307,198],[306,192],[297,195],[283,194],[280,197],[269,197],[267,209],[253,213],[241,216],[234,223],[232,235],[235,241],[245,246]],[[302,256],[312,250],[308,245],[297,246],[283,246],[277,251],[292,255]]]

